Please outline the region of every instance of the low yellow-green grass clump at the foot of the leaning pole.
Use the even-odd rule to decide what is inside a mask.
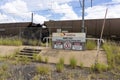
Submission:
[[[91,66],[92,71],[95,72],[104,72],[108,70],[108,66],[101,64],[101,63],[96,63],[94,65]]]

